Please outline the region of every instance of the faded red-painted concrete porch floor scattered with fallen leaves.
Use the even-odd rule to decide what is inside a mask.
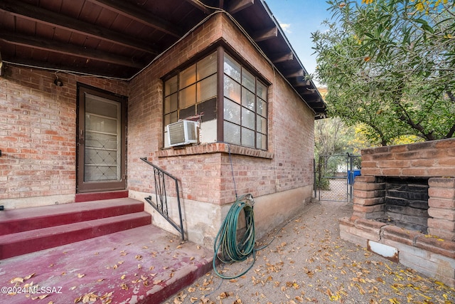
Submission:
[[[146,225],[0,261],[0,303],[161,303],[212,261],[206,248]]]

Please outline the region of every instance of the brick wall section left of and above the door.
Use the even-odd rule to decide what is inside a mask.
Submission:
[[[127,83],[58,73],[6,68],[0,78],[0,204],[31,197],[75,194],[77,82],[127,94]],[[38,201],[36,203],[39,203]],[[54,203],[54,202],[53,202]]]

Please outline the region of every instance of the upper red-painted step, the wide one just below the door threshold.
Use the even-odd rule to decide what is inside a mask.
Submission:
[[[0,211],[0,236],[144,211],[135,199],[109,199]]]

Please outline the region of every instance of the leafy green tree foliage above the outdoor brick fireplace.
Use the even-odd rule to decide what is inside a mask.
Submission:
[[[329,114],[390,145],[455,133],[455,4],[447,0],[328,1],[312,33]]]

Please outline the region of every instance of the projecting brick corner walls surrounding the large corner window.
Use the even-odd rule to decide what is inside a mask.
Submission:
[[[281,76],[274,73],[272,65],[238,28],[225,15],[218,14],[132,80],[128,125],[129,189],[154,191],[151,189],[151,169],[139,160],[139,157],[147,156],[151,162],[181,179],[183,199],[213,204],[235,200],[227,147],[213,144],[161,150],[163,88],[159,78],[220,39],[232,45],[272,83],[269,87],[268,152],[254,155],[255,150],[232,146],[237,194],[252,193],[256,197],[313,184],[313,113]]]

